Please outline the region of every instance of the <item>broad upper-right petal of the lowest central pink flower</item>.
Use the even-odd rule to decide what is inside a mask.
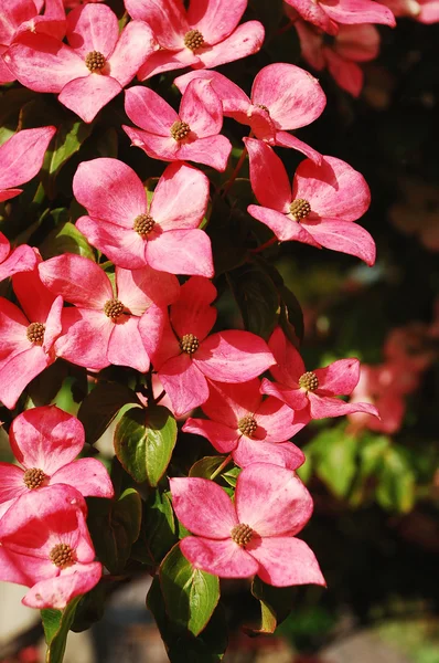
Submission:
[[[267,463],[253,463],[239,474],[235,506],[239,523],[261,537],[297,534],[312,514],[311,495],[300,478]]]

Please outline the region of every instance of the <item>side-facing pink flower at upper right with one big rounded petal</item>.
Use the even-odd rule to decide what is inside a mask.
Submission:
[[[292,147],[321,162],[318,151],[288,134],[290,129],[311,124],[326,104],[323,90],[311,74],[293,64],[269,64],[255,77],[251,98],[217,72],[190,72],[174,83],[184,93],[190,82],[200,77],[210,81],[222,101],[224,115],[249,125],[256,138],[269,145]]]

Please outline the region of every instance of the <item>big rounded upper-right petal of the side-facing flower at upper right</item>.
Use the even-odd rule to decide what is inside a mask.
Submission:
[[[304,70],[277,62],[259,71],[251,102],[267,106],[279,129],[297,129],[317,119],[326,105],[320,83]]]

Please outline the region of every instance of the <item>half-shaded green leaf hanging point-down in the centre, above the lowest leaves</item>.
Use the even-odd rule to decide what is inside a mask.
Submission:
[[[176,441],[176,422],[162,406],[131,408],[115,431],[115,451],[137,483],[156,487],[163,476]]]

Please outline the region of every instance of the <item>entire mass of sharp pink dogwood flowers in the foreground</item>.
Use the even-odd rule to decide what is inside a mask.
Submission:
[[[238,25],[246,4],[192,0],[184,11],[172,0],[126,0],[132,20],[119,34],[117,17],[105,4],[81,4],[66,14],[61,0],[46,0],[40,14],[41,3],[33,0],[0,3],[1,81],[56,93],[86,123],[136,75],[146,81],[194,70],[175,81],[179,112],[147,86],[126,91],[126,113],[136,126],[124,130],[149,157],[169,162],[152,201],[118,159],[82,162],[74,176],[74,196],[87,211],[76,227],[113,262],[114,278],[87,257],[66,253],[43,261],[36,249],[11,251],[1,238],[1,276],[12,277],[21,308],[0,298],[0,399],[14,408],[57,357],[92,371],[113,364],[144,373],[152,364],[176,417],[196,407],[206,415],[188,419],[183,430],[206,436],[243,467],[234,503],[212,481],[171,480],[176,516],[195,535],[181,543],[188,559],[221,577],[257,573],[275,586],[324,583],[312,551],[295,538],[312,499],[295,474],[303,454],[289,440],[311,419],[377,410],[336,398],[357,385],[356,359],[307,371],[280,328],[268,345],[243,330],[211,334],[217,293],[211,241],[200,229],[210,182],[185,161],[224,171],[232,145],[221,134],[223,116],[248,125],[243,155],[248,154],[259,203],[248,212],[274,232],[272,242],[304,242],[372,265],[375,244],[355,223],[368,208],[370,191],[351,166],[289,133],[313,122],[325,105],[311,75],[271,64],[256,76],[248,97],[210,71],[260,48],[263,25]],[[326,12],[332,32],[352,17],[342,0],[331,8],[300,4]],[[382,4],[357,4],[355,12],[363,4],[376,8],[370,20],[390,22]],[[19,194],[14,187],[36,175],[55,131],[21,130],[1,146],[0,200]],[[307,157],[292,187],[274,146]],[[180,285],[176,275],[189,278]],[[260,380],[268,369],[272,380]],[[31,586],[30,606],[62,608],[101,573],[93,561],[83,495],[113,493],[97,461],[73,463],[83,441],[78,422],[56,408],[29,410],[12,424],[12,449],[24,471],[1,470],[7,511],[0,520],[0,579]]]

